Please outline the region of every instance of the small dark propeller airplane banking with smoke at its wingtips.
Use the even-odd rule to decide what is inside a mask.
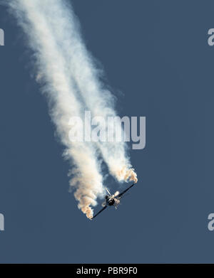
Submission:
[[[98,214],[100,214],[103,210],[106,210],[106,208],[108,208],[108,206],[114,205],[115,208],[118,207],[118,205],[120,204],[120,199],[122,198],[123,194],[126,193],[126,191],[128,191],[132,186],[134,186],[136,183],[133,183],[131,186],[129,186],[128,188],[126,188],[123,192],[119,193],[119,191],[116,191],[116,193],[114,193],[113,195],[111,195],[110,191],[108,190],[108,188],[106,188],[106,191],[108,192],[108,195],[106,195],[106,201],[104,201],[102,203],[103,208],[98,211],[98,213],[96,213],[96,215],[94,215],[91,220],[93,218],[96,218],[96,216]]]

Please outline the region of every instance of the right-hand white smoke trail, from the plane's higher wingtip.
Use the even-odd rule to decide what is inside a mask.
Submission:
[[[63,41],[63,53],[68,61],[69,71],[76,82],[78,92],[81,93],[86,106],[93,114],[93,117],[105,118],[116,117],[113,109],[113,96],[106,90],[99,79],[100,71],[96,70],[93,58],[86,50],[83,40],[80,36],[76,16],[73,14],[71,6],[65,6],[66,1],[51,1],[51,10],[48,11],[51,20],[51,26],[57,36]],[[58,15],[58,20],[51,16],[53,13]],[[103,122],[98,122],[102,126]],[[118,124],[117,122],[115,124]],[[103,127],[105,128],[105,127]],[[115,128],[108,132],[115,135]],[[117,130],[121,129],[121,125]],[[123,129],[121,129],[123,134]],[[135,181],[137,175],[131,168],[130,161],[126,155],[126,143],[121,142],[97,142],[101,150],[103,159],[108,165],[108,169],[118,181]]]

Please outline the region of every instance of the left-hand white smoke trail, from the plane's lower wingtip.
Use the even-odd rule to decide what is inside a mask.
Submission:
[[[74,175],[71,186],[77,187],[75,197],[79,202],[78,207],[91,218],[91,205],[96,205],[97,196],[103,193],[102,176],[93,147],[84,142],[74,144],[68,139],[71,128],[68,127],[69,119],[72,116],[82,117],[83,107],[75,97],[75,86],[61,51],[61,41],[46,16],[46,12],[51,10],[50,1],[14,0],[10,6],[29,36],[29,45],[36,55],[39,77],[46,84],[43,92],[49,99],[51,119],[56,124],[61,142],[66,146],[66,158],[72,160],[75,166],[71,172]],[[57,18],[56,14],[51,16]]]

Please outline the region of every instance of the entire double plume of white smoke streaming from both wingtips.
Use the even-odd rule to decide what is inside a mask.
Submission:
[[[118,181],[137,182],[137,177],[125,143],[97,142],[95,147],[90,142],[71,142],[68,122],[73,116],[83,118],[86,109],[93,117],[115,117],[113,97],[99,81],[99,71],[66,0],[11,0],[8,5],[34,50],[36,80],[44,84],[42,90],[49,100],[51,119],[73,166],[70,184],[76,187],[78,208],[91,218],[91,206],[96,205],[96,198],[104,191],[100,156]]]

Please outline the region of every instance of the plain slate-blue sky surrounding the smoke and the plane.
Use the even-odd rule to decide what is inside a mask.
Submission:
[[[78,210],[25,36],[0,6],[0,262],[213,262],[213,1],[71,2],[119,114],[146,116],[138,183],[116,211]]]

